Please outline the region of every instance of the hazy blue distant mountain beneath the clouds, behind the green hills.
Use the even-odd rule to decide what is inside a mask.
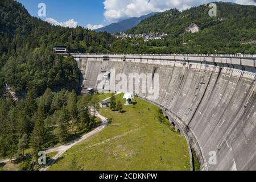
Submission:
[[[109,32],[110,34],[119,33],[119,32],[125,32],[126,30],[133,28],[137,26],[139,23],[141,23],[142,20],[149,18],[152,15],[158,14],[156,13],[150,13],[147,15],[143,15],[139,18],[133,17],[125,20],[121,20],[117,23],[109,24],[108,26],[98,28],[95,30],[96,32]]]

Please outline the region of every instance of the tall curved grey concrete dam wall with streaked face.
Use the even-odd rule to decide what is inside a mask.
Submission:
[[[110,69],[158,73],[159,97],[150,102],[186,137],[201,170],[256,170],[255,55],[72,56],[85,90],[97,88],[98,75]]]

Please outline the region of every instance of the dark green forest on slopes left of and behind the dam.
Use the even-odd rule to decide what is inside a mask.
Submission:
[[[54,55],[55,45],[82,53],[256,53],[256,7],[216,4],[217,17],[210,17],[208,5],[201,5],[182,12],[171,9],[144,19],[129,32],[168,34],[164,40],[144,42],[115,39],[106,32],[82,27],[52,26],[30,16],[16,1],[0,1],[0,94],[6,85],[16,93],[34,90],[38,96],[46,88],[76,88],[76,63],[71,57]],[[186,32],[191,23],[200,31]]]

